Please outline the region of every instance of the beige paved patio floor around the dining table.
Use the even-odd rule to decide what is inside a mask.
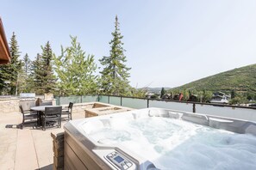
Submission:
[[[72,114],[73,119],[84,118],[84,112]],[[51,132],[63,131],[62,128],[33,129],[16,125],[6,128],[7,124],[20,124],[22,113],[0,114],[0,169],[53,169],[53,138]],[[66,121],[62,122],[63,125]]]

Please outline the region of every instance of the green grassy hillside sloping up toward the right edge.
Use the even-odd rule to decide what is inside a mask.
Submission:
[[[228,70],[172,89],[196,89],[197,91],[208,90],[212,92],[230,92],[234,89],[236,92],[256,94],[256,64]]]

